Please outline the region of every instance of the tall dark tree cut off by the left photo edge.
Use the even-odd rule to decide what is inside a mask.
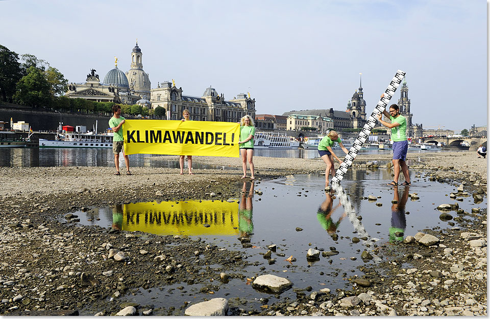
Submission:
[[[19,55],[0,45],[0,97],[12,102],[17,82],[22,78]]]

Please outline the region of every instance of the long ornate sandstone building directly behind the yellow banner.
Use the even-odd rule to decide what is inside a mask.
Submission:
[[[175,82],[158,83],[151,90],[151,104],[165,109],[166,120],[182,119],[182,111],[188,109],[193,121],[239,122],[245,115],[255,118],[255,99],[240,93],[231,100],[224,94],[219,95],[209,86],[201,97],[183,95],[182,87],[177,88]]]

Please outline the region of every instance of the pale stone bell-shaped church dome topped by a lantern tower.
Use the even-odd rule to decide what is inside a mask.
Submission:
[[[134,94],[139,95],[141,98],[150,99],[151,82],[149,74],[143,71],[142,56],[143,54],[136,40],[136,45],[131,53],[131,69],[126,72],[126,77]]]

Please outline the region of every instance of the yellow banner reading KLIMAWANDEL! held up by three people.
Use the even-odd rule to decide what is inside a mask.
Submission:
[[[238,123],[126,120],[121,129],[128,155],[239,156]]]

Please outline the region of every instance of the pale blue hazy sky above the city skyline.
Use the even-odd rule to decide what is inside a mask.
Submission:
[[[412,121],[459,132],[487,123],[487,2],[0,1],[0,44],[69,82],[128,71],[136,38],[152,88],[250,92],[257,113],[345,110],[359,86],[372,112],[397,70]],[[396,103],[399,91],[391,102]]]

